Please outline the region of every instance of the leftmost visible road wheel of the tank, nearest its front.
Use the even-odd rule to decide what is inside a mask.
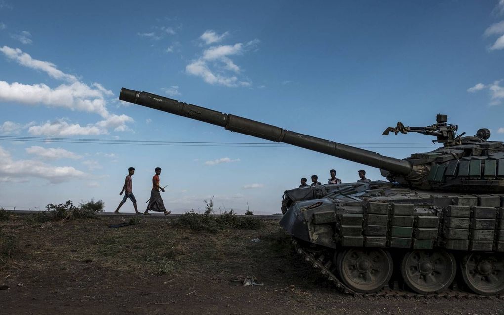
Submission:
[[[390,280],[393,262],[387,250],[351,248],[338,255],[338,272],[343,283],[360,293],[372,293]]]

